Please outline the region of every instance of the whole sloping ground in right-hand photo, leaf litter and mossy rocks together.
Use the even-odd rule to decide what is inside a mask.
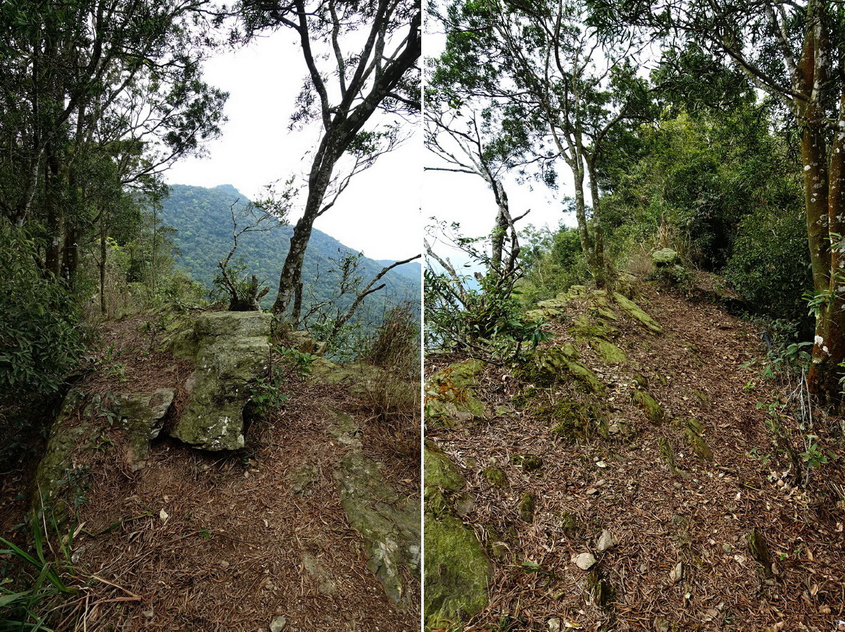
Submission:
[[[428,629],[845,629],[842,419],[800,429],[719,305],[627,293],[542,303],[531,362],[428,358]]]

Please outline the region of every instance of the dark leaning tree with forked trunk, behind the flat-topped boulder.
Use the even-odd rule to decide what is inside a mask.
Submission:
[[[334,206],[352,175],[383,153],[384,141],[390,146],[396,139],[395,127],[365,129],[373,114],[419,110],[413,69],[421,51],[421,8],[414,0],[243,0],[240,14],[248,36],[280,27],[297,33],[308,79],[292,123],[318,120],[322,128],[303,216],[294,227],[273,305],[273,313],[281,316],[294,295],[302,294],[303,259],[314,221]],[[345,52],[347,47],[352,50]],[[326,60],[328,68],[322,66]],[[336,178],[335,167],[344,155],[356,160]],[[298,320],[296,309],[292,320]]]

